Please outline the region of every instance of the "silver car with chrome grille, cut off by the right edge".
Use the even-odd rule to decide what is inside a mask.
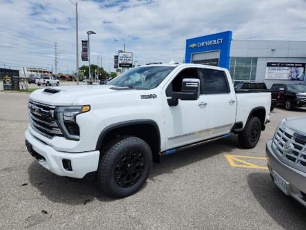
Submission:
[[[306,207],[306,117],[283,119],[266,153],[274,183]]]

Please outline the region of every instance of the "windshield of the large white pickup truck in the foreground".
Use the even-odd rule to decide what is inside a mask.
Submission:
[[[144,66],[132,68],[108,82],[112,86],[128,86],[136,89],[156,88],[176,66]]]

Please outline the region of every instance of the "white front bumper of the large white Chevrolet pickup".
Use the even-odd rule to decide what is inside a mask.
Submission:
[[[67,153],[56,151],[26,131],[26,146],[39,164],[52,173],[70,178],[83,178],[98,169],[100,151]]]

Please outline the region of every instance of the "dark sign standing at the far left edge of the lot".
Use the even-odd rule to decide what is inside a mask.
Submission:
[[[0,78],[3,79],[3,90],[19,90],[19,70],[0,68]]]

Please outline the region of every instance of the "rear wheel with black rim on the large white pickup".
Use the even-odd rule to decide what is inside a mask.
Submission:
[[[238,133],[238,142],[243,148],[254,148],[261,137],[261,120],[251,117],[241,133]]]

